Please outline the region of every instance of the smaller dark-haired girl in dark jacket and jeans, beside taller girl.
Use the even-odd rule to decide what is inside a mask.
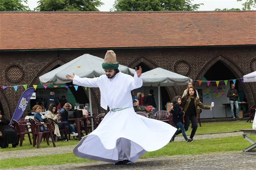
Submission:
[[[186,142],[191,142],[191,140],[187,138],[187,135],[185,133],[185,128],[183,126],[184,112],[183,112],[182,107],[180,106],[180,104],[181,104],[181,96],[175,96],[173,98],[172,102],[173,102],[173,106],[171,107],[172,120],[173,120],[173,122],[175,124],[175,128],[177,128],[177,131],[176,131],[175,135],[171,138],[170,142],[173,142],[175,136],[180,134],[180,133],[182,133],[182,135],[185,138]]]

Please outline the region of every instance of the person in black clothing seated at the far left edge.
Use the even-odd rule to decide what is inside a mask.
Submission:
[[[0,138],[1,148],[8,147],[9,144],[12,144],[12,147],[16,147],[19,142],[17,140],[16,131],[9,126],[9,123],[10,121],[5,119],[0,113],[0,131],[2,133],[2,137]]]

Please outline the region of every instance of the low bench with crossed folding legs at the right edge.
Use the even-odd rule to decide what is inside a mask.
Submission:
[[[248,153],[248,154],[253,154],[256,155],[256,141],[252,140],[251,138],[249,138],[247,135],[252,135],[255,134],[256,135],[256,129],[240,129],[240,131],[243,132],[243,138],[245,138],[247,141],[251,142],[252,145],[250,147],[247,147],[243,150],[244,153]]]

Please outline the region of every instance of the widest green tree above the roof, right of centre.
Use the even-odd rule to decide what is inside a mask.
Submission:
[[[193,0],[116,0],[111,11],[192,11],[203,4]]]

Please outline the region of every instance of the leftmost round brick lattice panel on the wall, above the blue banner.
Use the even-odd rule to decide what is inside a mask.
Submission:
[[[19,64],[11,64],[5,69],[5,78],[11,83],[18,83],[24,77],[24,69]]]

